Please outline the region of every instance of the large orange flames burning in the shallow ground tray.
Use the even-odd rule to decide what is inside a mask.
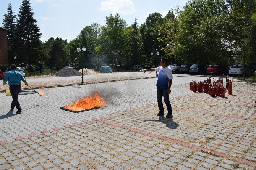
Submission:
[[[102,107],[104,104],[107,104],[107,102],[104,98],[100,97],[99,93],[94,92],[91,96],[85,96],[84,98],[78,99],[75,104],[68,104],[68,106],[63,107],[73,111],[81,111],[94,107]]]

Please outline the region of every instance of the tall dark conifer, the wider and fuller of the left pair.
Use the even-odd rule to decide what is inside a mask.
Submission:
[[[28,63],[29,71],[32,72],[31,64],[42,57],[41,42],[39,38],[42,33],[34,18],[34,12],[29,0],[23,0],[19,8],[16,24],[15,43],[17,62]]]

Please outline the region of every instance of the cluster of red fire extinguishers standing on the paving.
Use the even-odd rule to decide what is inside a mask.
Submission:
[[[208,93],[209,96],[221,96],[222,98],[226,97],[226,89],[228,90],[228,94],[232,95],[232,81],[229,80],[228,76],[226,77],[226,88],[223,85],[223,78],[222,76],[219,77],[217,82],[213,81],[211,84],[210,77],[207,80],[204,80],[204,82],[196,82],[191,81],[190,82],[190,90],[193,90],[194,92],[198,91],[201,93],[204,90],[204,93]]]

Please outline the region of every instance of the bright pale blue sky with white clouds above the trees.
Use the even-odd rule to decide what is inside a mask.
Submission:
[[[17,15],[22,0],[0,0],[0,26],[11,2]],[[118,13],[128,26],[135,16],[140,24],[154,12],[165,16],[169,10],[188,0],[30,0],[37,24],[41,29],[41,41],[50,37],[62,37],[68,41],[80,34],[85,26],[93,22],[105,25],[105,18]]]

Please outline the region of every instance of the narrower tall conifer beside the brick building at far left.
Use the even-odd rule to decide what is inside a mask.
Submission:
[[[9,63],[14,63],[14,51],[15,46],[13,42],[15,34],[16,15],[13,14],[11,3],[9,3],[7,14],[4,15],[2,27],[8,29],[7,42],[8,42],[8,59]]]

